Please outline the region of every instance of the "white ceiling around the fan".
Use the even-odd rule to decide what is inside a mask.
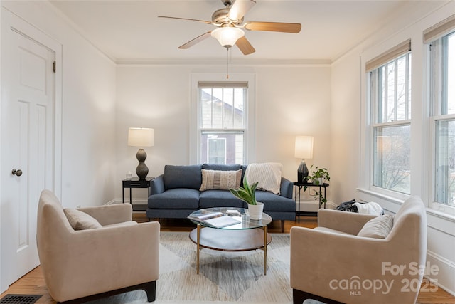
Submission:
[[[225,48],[208,38],[187,49],[178,46],[215,26],[196,21],[161,19],[177,16],[211,20],[220,0],[50,1],[80,33],[117,62],[159,60],[215,60],[226,58]],[[245,31],[256,52],[232,58],[326,59],[332,61],[385,26],[394,11],[419,1],[306,1],[256,0],[245,21],[301,23],[300,33]]]

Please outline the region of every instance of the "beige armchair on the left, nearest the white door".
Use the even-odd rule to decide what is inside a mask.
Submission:
[[[64,210],[52,192],[41,192],[38,256],[52,298],[81,303],[142,289],[147,300],[154,301],[159,276],[159,223],[132,221],[130,204],[78,209],[89,215],[82,214],[82,219],[78,211],[73,217],[65,215],[74,210]],[[83,230],[73,229],[68,219]],[[88,226],[81,226],[87,224],[86,219]]]

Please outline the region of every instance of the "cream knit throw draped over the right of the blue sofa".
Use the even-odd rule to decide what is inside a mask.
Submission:
[[[265,162],[262,164],[248,164],[245,172],[248,184],[258,182],[257,189],[279,194],[282,184],[282,164]]]

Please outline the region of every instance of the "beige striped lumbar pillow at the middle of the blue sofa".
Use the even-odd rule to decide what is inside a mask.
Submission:
[[[237,171],[216,171],[202,169],[200,191],[237,189],[242,182],[242,169]]]

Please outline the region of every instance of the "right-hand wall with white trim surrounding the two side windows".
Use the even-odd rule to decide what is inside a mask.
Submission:
[[[422,1],[414,10],[397,11],[387,28],[383,28],[333,63],[332,145],[336,146],[336,149],[333,149],[331,155],[334,179],[331,187],[333,186],[332,193],[336,193],[333,195],[334,199],[352,196],[360,201],[377,201],[386,211],[392,213],[400,208],[402,200],[392,199],[368,189],[369,177],[365,174],[368,172],[365,170],[368,161],[365,161],[366,150],[362,147],[365,134],[360,132],[363,130],[367,112],[363,64],[407,38],[412,38],[412,117],[426,117],[422,31],[455,12],[454,1],[440,9],[434,9],[432,7],[434,5],[432,1]],[[441,6],[440,3],[436,5]],[[413,174],[411,192],[413,195],[421,196],[427,206],[431,206],[429,184],[433,177],[429,176],[427,169],[429,147],[425,142],[428,127],[424,119],[412,121],[412,134],[414,139],[411,156]],[[429,277],[437,280],[441,288],[455,295],[455,218],[434,209],[427,209],[427,220],[427,261],[439,267],[439,273]]]

